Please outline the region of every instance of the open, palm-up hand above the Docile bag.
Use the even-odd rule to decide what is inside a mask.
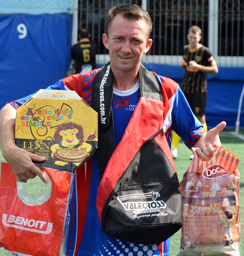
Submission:
[[[213,157],[213,146],[212,144],[221,146],[219,139],[219,132],[226,127],[226,122],[219,123],[216,127],[204,133],[199,141],[194,145],[197,154],[204,161],[209,161]]]

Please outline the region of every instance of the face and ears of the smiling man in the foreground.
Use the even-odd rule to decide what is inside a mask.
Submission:
[[[121,72],[136,71],[142,55],[152,45],[147,40],[147,26],[144,21],[129,21],[119,14],[114,17],[108,37],[102,36],[105,47],[109,50],[110,64]]]

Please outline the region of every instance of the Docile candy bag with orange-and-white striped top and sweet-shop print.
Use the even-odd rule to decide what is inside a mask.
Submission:
[[[211,161],[194,158],[180,183],[183,225],[178,255],[240,256],[239,159],[213,145]]]

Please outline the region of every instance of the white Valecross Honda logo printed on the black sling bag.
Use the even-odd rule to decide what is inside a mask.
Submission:
[[[150,192],[144,194],[129,194],[129,195],[121,195],[117,197],[121,205],[124,207],[125,211],[132,211],[135,213],[133,216],[135,218],[140,217],[151,217],[156,215],[164,215],[167,216],[168,212],[161,212],[162,208],[166,207],[166,204],[163,200],[156,200],[160,197],[160,193],[158,192]],[[145,199],[151,199],[150,201],[146,201]],[[161,212],[156,214],[151,214],[152,212]],[[145,215],[146,213],[146,215]],[[144,214],[137,216],[137,214]]]

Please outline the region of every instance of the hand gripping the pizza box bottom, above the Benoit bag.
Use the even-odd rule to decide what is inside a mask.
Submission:
[[[16,179],[19,182],[26,183],[28,179],[39,176],[46,184],[47,179],[43,173],[32,161],[43,162],[46,158],[41,157],[14,145],[11,149],[5,151],[3,156],[12,169]]]

